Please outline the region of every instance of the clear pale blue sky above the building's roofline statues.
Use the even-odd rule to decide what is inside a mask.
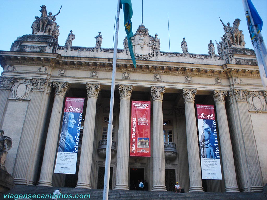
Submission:
[[[267,0],[252,2],[263,20],[261,32],[267,43]],[[101,31],[101,47],[112,48],[117,0],[1,0],[0,5],[0,50],[10,50],[12,42],[18,37],[31,34],[30,26],[35,16],[40,17],[41,5],[46,5],[47,11],[51,11],[53,15],[62,5],[61,13],[56,16],[56,22],[60,25],[59,45],[65,44],[70,30],[73,30],[73,46],[93,47],[96,42],[94,37]],[[132,0],[132,6],[135,33],[142,22],[142,0]],[[169,51],[168,15],[171,52],[182,52],[180,43],[185,37],[189,53],[207,54],[210,39],[215,44],[215,40],[221,41],[220,37],[224,34],[218,15],[225,24],[230,22],[231,26],[235,18],[241,19],[239,30],[243,30],[245,35],[245,47],[253,49],[242,0],[143,0],[143,24],[150,35],[158,34],[160,51]],[[125,36],[121,10],[118,48],[123,48]]]

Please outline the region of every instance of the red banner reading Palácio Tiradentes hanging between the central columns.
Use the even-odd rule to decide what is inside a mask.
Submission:
[[[132,101],[130,156],[150,157],[150,101]]]

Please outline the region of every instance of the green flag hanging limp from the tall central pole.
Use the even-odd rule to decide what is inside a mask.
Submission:
[[[136,62],[135,57],[133,53],[133,46],[132,46],[132,39],[133,37],[133,31],[132,31],[132,16],[133,16],[133,9],[132,9],[132,2],[131,0],[120,0],[120,9],[123,5],[123,14],[124,14],[124,26],[125,31],[127,34],[127,40],[128,40],[128,47],[130,51],[130,55],[133,61],[133,66],[136,68]]]

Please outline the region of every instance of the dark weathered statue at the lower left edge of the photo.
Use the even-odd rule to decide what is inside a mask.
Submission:
[[[5,162],[7,151],[12,148],[12,139],[10,137],[3,136],[4,131],[0,130],[0,167],[6,170]]]

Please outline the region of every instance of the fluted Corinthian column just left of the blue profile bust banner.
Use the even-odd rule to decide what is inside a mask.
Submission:
[[[69,83],[53,82],[53,87],[55,88],[55,99],[45,142],[44,158],[38,186],[52,187],[52,176],[56,157],[62,106],[65,94],[69,89]]]

